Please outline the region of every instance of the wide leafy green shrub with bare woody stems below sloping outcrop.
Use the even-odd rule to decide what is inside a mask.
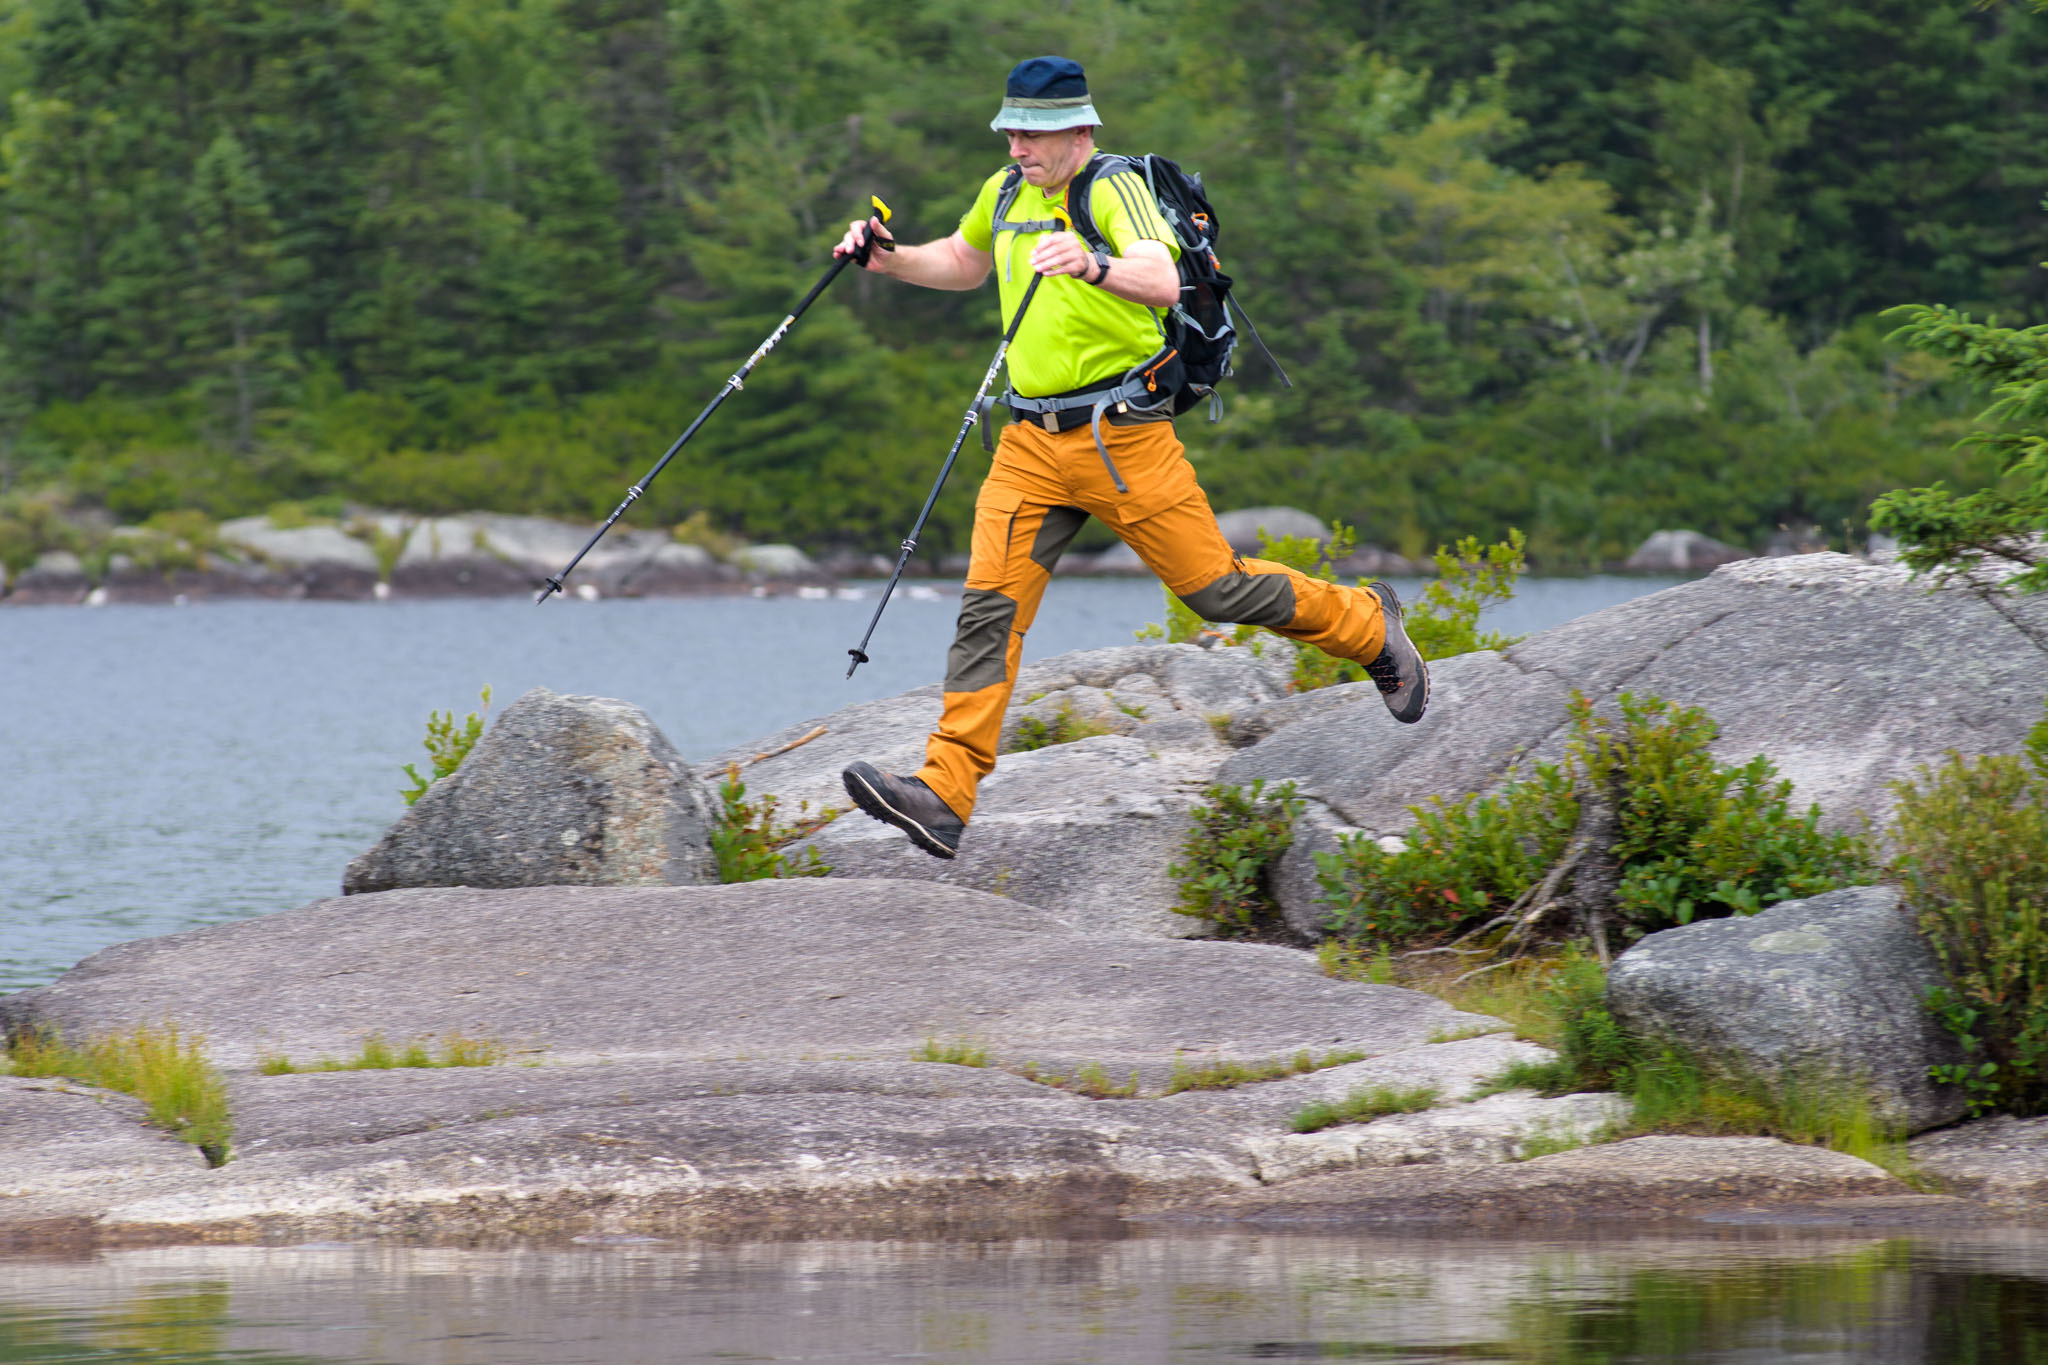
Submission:
[[[1616,806],[1622,868],[1614,913],[1626,937],[1847,886],[1870,872],[1853,835],[1825,835],[1819,808],[1790,810],[1769,759],[1718,763],[1698,708],[1620,696],[1620,729],[1573,694],[1565,763],[1536,763],[1491,796],[1409,806],[1401,851],[1366,835],[1317,855],[1335,933],[1372,943],[1448,935],[1522,900],[1579,831],[1589,792]]]

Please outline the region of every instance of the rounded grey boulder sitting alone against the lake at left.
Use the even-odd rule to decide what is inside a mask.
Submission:
[[[342,878],[399,886],[717,880],[702,784],[637,706],[535,688]]]

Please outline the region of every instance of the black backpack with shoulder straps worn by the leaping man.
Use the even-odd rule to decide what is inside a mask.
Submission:
[[[1280,368],[1280,362],[1274,360],[1274,354],[1266,350],[1266,342],[1260,338],[1251,315],[1245,313],[1243,303],[1231,299],[1231,276],[1223,272],[1223,262],[1217,260],[1217,239],[1223,229],[1217,223],[1217,211],[1208,203],[1208,194],[1202,190],[1200,174],[1186,172],[1180,164],[1163,156],[1098,153],[1073,176],[1073,184],[1067,190],[1073,231],[1098,252],[1112,250],[1108,237],[1096,227],[1087,203],[1096,176],[1122,170],[1133,170],[1145,178],[1145,186],[1159,207],[1159,217],[1165,219],[1165,225],[1180,239],[1180,303],[1165,315],[1165,344],[1143,366],[1147,375],[1157,375],[1161,387],[1174,395],[1174,415],[1178,417],[1202,399],[1210,403],[1210,422],[1221,413],[1217,383],[1233,372],[1231,354],[1237,350],[1235,319],[1243,319],[1245,332],[1251,334],[1251,342],[1260,348],[1260,354],[1274,366],[1280,383],[1292,389],[1294,383]],[[1022,172],[1012,166],[995,196],[995,223],[1008,221],[1020,182]],[[1026,225],[1018,223],[1018,227]]]

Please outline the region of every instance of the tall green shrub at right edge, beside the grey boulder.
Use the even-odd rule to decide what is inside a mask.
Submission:
[[[2048,720],[2023,755],[1950,755],[1898,794],[1892,872],[1942,964],[1927,1007],[1972,1113],[2048,1113]]]

